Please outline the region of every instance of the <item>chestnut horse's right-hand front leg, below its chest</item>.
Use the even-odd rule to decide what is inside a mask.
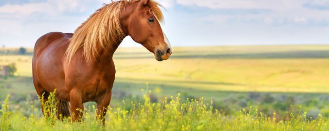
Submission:
[[[107,106],[111,101],[112,93],[104,95],[103,99],[97,102],[97,117],[96,119],[100,119],[103,121],[103,125],[105,125],[105,115],[107,112]]]

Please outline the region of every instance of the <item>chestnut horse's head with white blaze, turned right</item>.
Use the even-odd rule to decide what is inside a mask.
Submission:
[[[160,26],[163,16],[158,4],[152,0],[140,0],[127,5],[123,10],[126,13],[120,17],[124,17],[124,32],[154,53],[156,60],[167,60],[172,49]]]

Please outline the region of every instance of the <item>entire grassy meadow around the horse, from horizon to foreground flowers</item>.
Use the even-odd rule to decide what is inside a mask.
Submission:
[[[8,110],[12,114],[8,119],[22,119],[24,125],[31,127],[28,129],[40,129],[42,127],[31,125],[47,125],[32,83],[32,50],[28,49],[27,55],[16,55],[15,51],[0,49],[0,65],[14,62],[17,67],[14,77],[0,78],[0,101],[10,94]],[[100,123],[91,118],[85,118],[82,123],[57,121],[55,124],[77,130],[122,130],[130,124],[135,126],[126,130],[170,130],[171,127],[174,130],[218,130],[218,127],[221,127],[219,130],[327,130],[328,58],[329,46],[177,47],[169,60],[158,62],[146,49],[119,48],[114,55],[117,73],[108,126],[98,127]],[[145,98],[140,90],[146,82],[152,93]],[[175,97],[171,98],[177,93],[180,93],[179,104],[171,104],[172,100],[177,102]],[[184,115],[186,111],[180,107],[187,106],[182,105],[188,102],[187,98],[190,102],[191,99],[203,101],[204,105],[193,105],[193,110],[188,112],[191,114]],[[140,114],[129,114],[132,106],[125,108],[128,106],[122,100],[127,105],[131,101],[136,103]],[[145,109],[147,105],[138,103],[154,107]],[[88,102],[85,106],[94,104]],[[177,111],[158,107],[166,104]],[[36,112],[31,105],[37,107]],[[124,110],[129,115],[120,114]],[[180,116],[175,118],[173,114]],[[4,113],[0,115],[3,117]],[[156,128],[161,120],[167,124],[166,128]],[[46,128],[56,130],[52,126]]]

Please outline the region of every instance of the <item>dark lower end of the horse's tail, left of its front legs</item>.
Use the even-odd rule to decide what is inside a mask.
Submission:
[[[68,101],[56,98],[57,104],[57,118],[63,119],[65,117],[70,117],[70,104]]]

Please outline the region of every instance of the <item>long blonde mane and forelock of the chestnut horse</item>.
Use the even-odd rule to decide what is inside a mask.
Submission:
[[[99,57],[99,48],[103,50],[114,50],[111,47],[125,36],[123,33],[119,16],[121,9],[127,4],[140,0],[112,1],[111,4],[104,4],[92,14],[80,27],[78,27],[70,39],[66,50],[66,60],[70,63],[78,49],[83,48],[83,55],[87,63]],[[148,5],[153,15],[163,21],[163,15],[158,3],[150,0]]]

